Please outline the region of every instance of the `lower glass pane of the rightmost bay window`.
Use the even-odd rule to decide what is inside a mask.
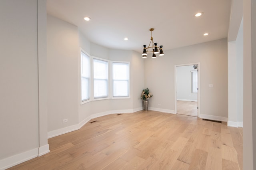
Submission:
[[[114,80],[113,81],[113,97],[128,97],[128,81]]]

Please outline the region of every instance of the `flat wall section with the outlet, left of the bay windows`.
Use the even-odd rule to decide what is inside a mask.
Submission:
[[[78,43],[76,26],[47,16],[48,131],[78,124]]]

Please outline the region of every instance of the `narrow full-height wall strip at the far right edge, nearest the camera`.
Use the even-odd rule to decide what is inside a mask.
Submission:
[[[244,170],[256,168],[256,4],[244,0]]]

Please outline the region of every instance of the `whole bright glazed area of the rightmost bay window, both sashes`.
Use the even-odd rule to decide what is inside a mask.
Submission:
[[[129,63],[112,63],[113,97],[129,97]]]

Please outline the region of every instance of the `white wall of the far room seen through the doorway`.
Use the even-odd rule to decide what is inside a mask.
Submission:
[[[177,100],[197,101],[197,93],[191,93],[191,71],[197,71],[193,65],[176,67]]]

